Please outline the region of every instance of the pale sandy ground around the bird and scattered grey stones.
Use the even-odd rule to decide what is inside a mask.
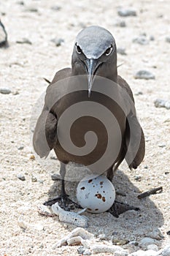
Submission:
[[[166,234],[170,230],[170,110],[155,108],[157,98],[170,99],[169,43],[165,37],[169,31],[169,1],[23,1],[6,0],[0,3],[0,16],[9,34],[9,48],[0,49],[0,87],[9,87],[12,94],[0,94],[0,255],[77,255],[77,246],[53,249],[56,242],[74,229],[58,221],[58,217],[42,217],[36,206],[49,197],[53,188],[49,173],[31,159],[32,149],[29,135],[31,110],[47,88],[43,77],[52,79],[58,69],[69,67],[74,39],[82,26],[98,24],[115,36],[117,46],[125,47],[127,56],[118,55],[119,74],[134,91],[136,109],[146,137],[146,156],[137,170],[131,172],[123,164],[113,180],[116,189],[126,197],[118,199],[141,211],[128,211],[115,219],[109,213],[85,214],[90,219],[88,231],[106,234],[115,238],[139,241],[150,231],[160,227],[164,238],[159,248],[170,244]],[[61,10],[51,7],[58,5]],[[115,26],[120,17],[117,7],[134,7],[136,17],[121,18],[126,27]],[[34,7],[38,12],[26,11]],[[1,12],[6,15],[2,16]],[[162,17],[161,17],[162,15]],[[155,37],[149,45],[132,43],[141,33]],[[17,44],[26,37],[32,45]],[[54,37],[65,42],[56,48]],[[135,80],[134,72],[148,69],[155,80]],[[19,94],[15,94],[18,91]],[[142,91],[143,94],[139,94]],[[18,150],[24,146],[23,150]],[[55,160],[54,160],[55,161]],[[54,170],[55,171],[55,170]],[[56,172],[58,162],[56,161]],[[17,178],[18,173],[26,181]],[[37,182],[31,180],[37,178]],[[136,180],[141,176],[141,181]],[[43,181],[43,182],[39,182]],[[55,184],[59,184],[57,181]],[[75,197],[77,184],[66,183],[67,191]],[[139,192],[163,186],[163,192],[138,200]],[[18,226],[18,217],[23,215],[32,228],[24,232]],[[104,242],[103,242],[104,243]],[[123,246],[129,251],[137,246]],[[101,254],[108,255],[108,254]]]

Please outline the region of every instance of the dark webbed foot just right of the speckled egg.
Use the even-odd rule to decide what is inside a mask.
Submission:
[[[120,214],[123,214],[125,211],[134,210],[139,211],[140,209],[134,206],[129,206],[125,203],[120,203],[115,201],[111,208],[109,208],[109,213],[112,214],[114,217],[118,218]]]

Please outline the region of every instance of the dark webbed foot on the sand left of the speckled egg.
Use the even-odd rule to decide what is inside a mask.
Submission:
[[[60,195],[59,197],[55,197],[51,200],[47,200],[44,205],[52,206],[54,203],[58,203],[59,206],[61,206],[61,208],[63,208],[65,211],[70,211],[74,208],[82,208],[79,204],[69,199],[69,195],[66,194]]]

